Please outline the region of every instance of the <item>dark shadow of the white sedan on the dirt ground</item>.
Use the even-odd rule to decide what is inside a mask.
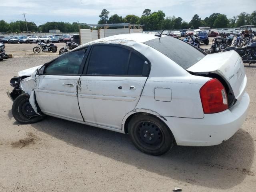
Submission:
[[[162,156],[150,156],[137,150],[128,134],[50,116],[32,127],[70,145],[190,184],[228,189],[253,175],[254,141],[243,129],[218,146],[174,146]]]

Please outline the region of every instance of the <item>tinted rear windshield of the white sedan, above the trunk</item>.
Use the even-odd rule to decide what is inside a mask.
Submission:
[[[206,56],[192,45],[169,36],[152,39],[144,44],[158,50],[184,69],[188,69]]]

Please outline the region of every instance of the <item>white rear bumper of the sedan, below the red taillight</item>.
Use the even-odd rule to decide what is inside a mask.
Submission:
[[[244,123],[250,98],[245,92],[232,108],[202,119],[165,117],[178,145],[212,146],[232,137]]]

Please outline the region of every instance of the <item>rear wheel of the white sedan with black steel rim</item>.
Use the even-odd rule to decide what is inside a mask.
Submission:
[[[172,132],[150,114],[136,114],[128,123],[128,134],[138,150],[150,155],[162,155],[174,145]]]

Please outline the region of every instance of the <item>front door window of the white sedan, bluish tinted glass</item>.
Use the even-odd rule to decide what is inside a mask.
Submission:
[[[69,52],[59,56],[56,60],[50,63],[44,74],[56,75],[76,75],[79,72],[82,60],[84,58],[85,49]]]

